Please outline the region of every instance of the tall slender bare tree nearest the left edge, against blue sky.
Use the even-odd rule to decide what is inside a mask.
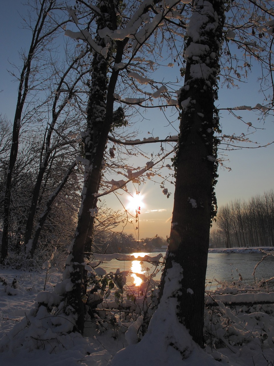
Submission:
[[[32,107],[31,103],[28,103],[26,108],[26,102],[31,93],[37,93],[38,90],[43,89],[43,81],[47,79],[46,64],[43,64],[43,61],[47,52],[52,48],[51,41],[56,37],[56,33],[62,30],[62,26],[64,25],[64,22],[60,21],[60,19],[57,21],[54,16],[51,16],[51,12],[59,8],[60,4],[57,1],[42,0],[40,4],[37,3],[33,9],[30,9],[28,19],[26,18],[27,20],[24,20],[26,22],[25,26],[32,32],[32,38],[28,52],[26,54],[22,52],[21,54],[23,66],[21,69],[18,69],[20,70],[20,75],[17,78],[19,82],[18,97],[5,184],[1,262],[7,256],[12,174],[18,154],[20,129],[23,123],[26,123],[31,115],[34,115],[35,109],[37,108],[37,105]],[[33,13],[35,13],[34,18]]]

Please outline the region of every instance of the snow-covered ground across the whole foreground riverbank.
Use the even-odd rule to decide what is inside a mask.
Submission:
[[[224,283],[215,293],[207,294],[209,307],[205,311],[205,340],[208,346],[206,350],[201,350],[171,311],[176,304],[171,303],[175,299],[168,297],[168,294],[154,313],[144,337],[137,332],[143,313],[127,319],[117,310],[113,324],[101,321],[100,318],[103,319],[107,313],[103,311],[98,313],[98,318],[90,319],[84,337],[74,333],[60,333],[56,337],[41,333],[43,317],[33,317],[30,310],[34,308],[36,297],[44,286],[46,291],[52,291],[54,284],[60,282],[61,274],[52,273],[45,284],[45,273],[42,271],[23,272],[0,267],[0,277],[0,364],[3,366],[274,364],[274,306],[250,304],[267,299],[268,302],[273,301],[274,293],[268,293],[266,287],[246,286],[237,281],[233,286]],[[172,277],[170,274],[169,277],[176,286],[178,276]],[[229,302],[234,300],[240,305],[229,306]],[[218,306],[212,306],[214,301]],[[111,304],[115,305],[115,302],[109,302]],[[140,337],[142,339],[138,342]],[[171,340],[173,344],[180,342],[178,347],[184,347],[183,361],[176,347],[170,346]],[[117,354],[124,347],[126,349]]]

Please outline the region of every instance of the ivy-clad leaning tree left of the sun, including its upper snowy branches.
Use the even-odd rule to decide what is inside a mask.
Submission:
[[[155,3],[157,3],[157,1],[155,1]],[[106,27],[110,30],[117,29],[117,24],[123,20],[123,17],[120,18],[120,13],[117,12],[117,9],[121,4],[122,3],[119,3],[117,0],[99,2],[98,7],[100,8],[100,13],[96,15],[98,30]],[[176,3],[172,6],[175,5]],[[134,13],[135,15],[128,22],[130,27],[134,28],[137,23],[136,19],[139,19],[151,8],[152,2],[141,2],[140,6],[138,6]],[[163,7],[163,10],[160,12],[161,16],[157,16],[157,18],[155,18],[155,21],[152,23],[153,27],[150,27],[150,29],[145,33],[142,38],[142,42],[137,42],[137,45],[132,51],[131,57],[135,57],[142,44],[149,39],[155,29],[162,22],[163,18],[170,11],[171,8]],[[123,40],[115,39],[114,44],[109,45],[107,57],[113,57],[114,60],[112,64],[121,65],[124,51],[128,52],[125,50],[125,47],[128,45],[131,38],[132,36],[130,36],[130,38],[126,37]],[[84,34],[81,39],[84,39]],[[104,44],[104,39],[105,37],[97,37],[98,42],[96,42],[96,44],[104,48],[106,46],[106,44]],[[84,40],[88,42],[87,39]],[[115,54],[115,56],[113,54]],[[91,248],[91,241],[89,237],[92,236],[94,224],[94,217],[91,215],[91,210],[96,209],[96,195],[98,193],[101,179],[102,160],[104,158],[104,151],[106,149],[109,132],[114,125],[114,93],[120,71],[119,67],[113,67],[111,71],[108,70],[106,59],[100,53],[95,53],[92,68],[91,93],[87,108],[87,130],[84,141],[85,157],[87,161],[84,188],[82,192],[82,202],[78,216],[76,234],[71,244],[71,251],[66,262],[66,269],[63,276],[64,280],[70,279],[73,285],[72,291],[68,291],[65,294],[66,303],[68,305],[66,309],[68,312],[73,311],[76,319],[76,329],[81,333],[83,333],[84,330],[85,318],[84,254],[85,249]],[[104,94],[105,87],[106,93]],[[97,91],[99,92],[97,93]]]

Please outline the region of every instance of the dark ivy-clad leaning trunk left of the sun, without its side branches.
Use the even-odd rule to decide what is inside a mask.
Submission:
[[[104,17],[98,16],[97,18],[98,30],[106,26],[110,29],[116,29],[117,15],[113,0],[102,2],[100,10]],[[98,37],[98,40],[99,45],[105,46],[102,38]],[[125,43],[126,41],[116,42],[115,63],[121,62]],[[113,122],[113,94],[119,75],[119,70],[113,70],[108,82],[109,66],[107,60],[97,53],[94,54],[92,69],[85,137],[85,157],[89,163],[85,169],[84,188],[76,234],[67,261],[66,268],[68,268],[68,272],[65,271],[64,273],[64,278],[69,277],[73,283],[73,290],[67,294],[67,302],[76,311],[76,328],[80,333],[84,331],[85,305],[82,299],[84,299],[86,292],[85,272],[82,264],[84,262],[84,252],[91,250],[91,241],[88,234],[92,234],[94,224],[94,216],[91,215],[90,210],[96,209],[96,194],[99,190],[102,160]]]

